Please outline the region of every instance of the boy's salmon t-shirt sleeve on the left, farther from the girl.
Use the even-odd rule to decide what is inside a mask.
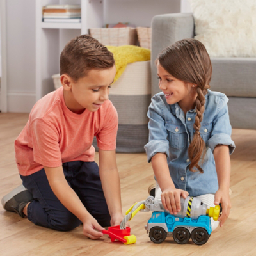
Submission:
[[[31,123],[31,135],[34,161],[47,167],[61,166],[59,136],[53,125],[35,119]]]

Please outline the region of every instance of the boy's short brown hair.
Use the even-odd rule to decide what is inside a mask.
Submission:
[[[68,74],[74,81],[86,76],[92,69],[104,70],[113,65],[113,54],[90,35],[73,38],[60,55],[60,74]]]

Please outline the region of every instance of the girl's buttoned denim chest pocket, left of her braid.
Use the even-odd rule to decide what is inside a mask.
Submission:
[[[170,147],[175,149],[182,149],[186,147],[188,135],[186,128],[182,123],[175,124],[166,122],[165,128],[168,132],[168,141],[170,143]]]

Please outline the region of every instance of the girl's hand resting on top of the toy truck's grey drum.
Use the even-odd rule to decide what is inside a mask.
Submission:
[[[164,209],[169,211],[170,214],[177,214],[181,210],[180,196],[185,199],[188,196],[188,192],[176,188],[165,189],[161,194]]]

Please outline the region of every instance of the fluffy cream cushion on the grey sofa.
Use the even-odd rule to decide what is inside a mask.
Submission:
[[[256,57],[255,0],[189,0],[195,39],[211,57]]]

